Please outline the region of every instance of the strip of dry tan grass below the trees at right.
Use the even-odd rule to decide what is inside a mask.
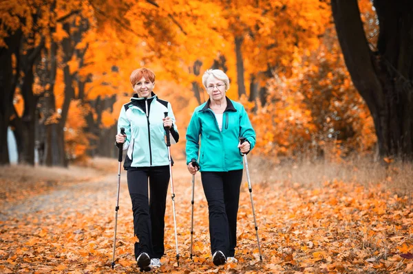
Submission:
[[[413,163],[383,165],[370,158],[341,162],[292,161],[273,163],[262,157],[248,159],[251,181],[257,183],[293,183],[321,187],[326,182],[343,181],[364,186],[379,185],[399,196],[413,194]]]

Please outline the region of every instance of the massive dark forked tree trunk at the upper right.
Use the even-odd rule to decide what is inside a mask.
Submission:
[[[413,3],[375,0],[379,17],[372,52],[357,0],[332,0],[339,43],[354,87],[374,120],[379,155],[413,159]]]

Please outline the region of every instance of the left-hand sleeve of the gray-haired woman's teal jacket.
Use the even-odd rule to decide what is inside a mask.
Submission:
[[[198,118],[198,111],[194,111],[187,128],[187,165],[191,162],[191,159],[196,159],[198,162],[198,155],[200,149],[200,133],[201,124]]]

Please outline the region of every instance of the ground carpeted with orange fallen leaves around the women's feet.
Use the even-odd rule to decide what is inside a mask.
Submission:
[[[116,164],[116,161],[115,161]],[[110,171],[110,170],[109,170]],[[39,187],[0,201],[0,273],[136,273],[131,202],[122,172],[112,270],[117,165],[93,179]],[[253,174],[252,174],[253,175]],[[237,264],[211,262],[208,210],[195,183],[194,260],[191,176],[173,167],[180,265],[176,263],[168,194],[162,267],[153,273],[413,273],[413,210],[405,197],[379,186],[332,181],[321,187],[253,181],[263,261],[260,262],[246,182],[238,216]],[[251,177],[254,180],[254,176]],[[1,187],[13,182],[1,180]],[[19,183],[19,182],[15,182]],[[36,188],[41,190],[36,192]],[[10,190],[19,192],[24,187]]]

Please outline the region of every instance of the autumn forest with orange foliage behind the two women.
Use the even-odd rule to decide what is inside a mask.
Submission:
[[[183,157],[191,113],[208,98],[202,73],[214,68],[229,75],[228,97],[248,110],[257,133],[253,155],[275,162],[342,161],[350,155],[411,159],[412,71],[406,63],[411,67],[412,62],[400,60],[412,54],[401,56],[407,45],[399,40],[393,43],[399,59],[378,49],[379,37],[386,43],[392,37],[379,32],[383,23],[371,1],[339,5],[319,0],[1,1],[0,163],[9,162],[8,126],[19,163],[34,165],[35,150],[45,165],[114,157],[116,119],[133,95],[129,74],[138,67],[156,72],[156,93],[173,106],[182,136],[174,157]],[[389,17],[398,12],[382,11],[379,15]],[[350,76],[336,28],[351,49],[346,62],[358,66],[354,60],[377,58],[364,69],[375,71],[376,78]],[[362,78],[356,82],[359,90],[352,78]],[[369,81],[373,84],[366,87]],[[383,95],[375,90],[377,81]],[[395,106],[386,103],[394,96],[399,96]],[[394,108],[404,114],[394,117]]]

